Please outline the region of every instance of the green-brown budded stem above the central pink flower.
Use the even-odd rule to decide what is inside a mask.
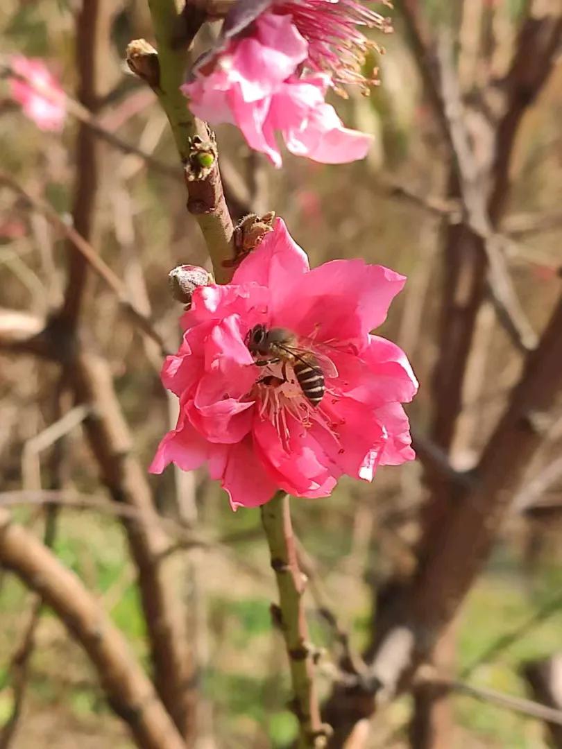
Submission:
[[[160,85],[154,89],[166,112],[182,163],[187,163],[190,138],[199,135],[209,139],[205,123],[197,120],[187,108],[187,99],[180,91],[187,67],[185,44],[178,42],[178,31],[184,28],[181,9],[175,0],[148,0],[157,41],[160,63]],[[232,219],[230,217],[220,181],[218,165],[205,179],[187,182],[189,201],[187,207],[196,216],[205,238],[214,276],[218,283],[226,283],[232,268],[223,265],[234,255],[232,244]]]

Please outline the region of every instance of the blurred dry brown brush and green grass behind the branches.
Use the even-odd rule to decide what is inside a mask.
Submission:
[[[465,101],[462,119],[484,184],[490,184],[498,168],[494,154],[502,139],[513,136],[507,166],[510,192],[507,195],[507,182],[499,188],[505,200],[492,225],[501,233],[504,267],[525,331],[532,337],[543,330],[561,291],[559,31],[558,43],[549,52],[552,70],[549,67],[542,79],[538,76],[515,132],[500,139],[498,82],[512,70],[522,44],[520,31],[529,19],[558,13],[560,21],[562,10],[556,1],[525,0],[420,0],[396,6],[395,32],[384,37],[386,53],[376,59],[381,85],[370,97],[351,92],[348,100],[333,99],[345,124],[375,135],[366,161],[330,167],[286,154],[283,169],[276,171],[248,151],[234,128],[220,127],[220,162],[236,219],[247,210],[275,210],[309,253],[312,265],[363,257],[408,276],[405,291],[378,332],[405,349],[420,380],[420,393],[408,407],[420,452],[437,456],[447,470],[469,471],[521,375],[525,346],[514,345],[509,326],[483,294],[474,315],[470,355],[463,364],[453,434],[440,445],[434,428],[435,413],[442,407],[435,371],[447,362],[441,335],[452,283],[447,253],[451,227],[462,221],[464,209],[451,189],[450,146],[420,76],[411,19],[417,13],[435,38],[441,28],[453,41],[459,95]],[[408,22],[410,11],[414,16]],[[94,32],[85,26],[78,0],[5,0],[0,9],[1,54],[43,58],[64,91],[94,112],[98,130],[150,154],[167,171],[116,148],[85,124],[82,110],[76,117],[71,108],[61,133],[42,132],[10,98],[5,75],[0,82],[1,170],[32,198],[48,202],[66,225],[74,222],[173,349],[179,341],[181,304],[170,297],[167,273],[180,263],[205,264],[205,246],[186,211],[166,118],[154,94],[127,74],[124,65],[131,39],[153,40],[147,4],[97,0],[93,12],[96,43],[85,63],[80,46],[87,46],[88,34]],[[211,31],[198,38],[201,49]],[[532,68],[536,58],[526,59]],[[93,80],[85,64],[95,69]],[[25,313],[22,324],[29,333],[40,330],[40,321],[61,306],[72,252],[60,228],[30,207],[13,186],[0,185],[0,306],[5,314]],[[465,249],[459,246],[458,252]],[[139,334],[115,291],[95,273],[89,273],[82,296],[79,338],[111,375],[116,395],[112,407],[122,410],[129,425],[134,459],[142,467],[140,480],[172,528],[162,563],[181,606],[196,664],[190,686],[197,702],[196,745],[290,745],[295,719],[287,709],[285,650],[271,625],[270,603],[277,599],[277,590],[259,512],[242,509],[233,514],[226,495],[205,470],[144,475],[174,420],[175,404],[160,384],[157,345]],[[60,366],[48,358],[62,359],[64,352],[44,358],[8,348],[0,348],[0,504],[9,506],[19,523],[43,538],[79,575],[148,669],[146,622],[127,532],[120,518],[95,506],[80,506],[85,497],[94,504],[109,494],[103,470],[100,479],[99,456],[92,454],[82,428],[88,413],[76,406]],[[516,697],[537,697],[525,676],[529,662],[562,652],[561,417],[562,410],[556,408],[549,415],[543,443],[510,499],[492,554],[455,627],[452,673],[469,670],[471,685]],[[53,424],[57,427],[49,431]],[[46,505],[49,491],[66,497],[67,504],[58,509],[56,503]],[[312,639],[329,654],[318,673],[322,695],[330,694],[333,677],[326,664],[341,655],[341,632],[330,625],[324,608],[337,612],[338,626],[357,652],[369,646],[376,590],[396,571],[411,571],[420,506],[429,491],[431,481],[424,479],[422,464],[415,461],[382,468],[372,485],[344,479],[326,500],[294,500],[295,530],[306,550],[301,560],[312,583],[306,599]],[[185,541],[192,532],[208,545],[193,548]],[[14,705],[19,716],[13,736],[0,745],[132,747],[124,724],[106,704],[88,658],[49,609],[35,617],[34,645],[25,649],[36,609],[34,594],[4,571],[0,724],[4,729],[10,724]],[[513,632],[512,640],[500,640],[498,646],[498,638]],[[27,655],[18,660],[22,648]],[[538,749],[554,740],[537,718],[471,695],[453,691],[447,706],[453,729],[441,746]],[[393,701],[372,722],[364,746],[408,746],[411,712],[411,694]]]

